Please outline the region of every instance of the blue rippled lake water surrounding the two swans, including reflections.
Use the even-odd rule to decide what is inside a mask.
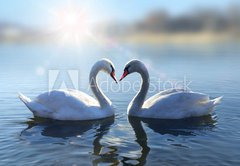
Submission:
[[[0,45],[0,164],[5,165],[240,165],[240,45],[118,45],[60,47]],[[116,108],[115,118],[62,122],[34,118],[17,98],[59,88],[58,71],[68,88],[88,94],[88,74],[109,58],[116,76],[132,58],[146,63],[148,96],[172,85],[223,96],[211,116],[185,120],[127,117],[140,76],[115,84],[101,73],[99,83]],[[69,71],[75,75],[69,79]],[[77,73],[77,74],[76,74]],[[69,81],[71,80],[71,81]],[[130,83],[130,84],[129,84]],[[136,84],[134,87],[132,84]]]

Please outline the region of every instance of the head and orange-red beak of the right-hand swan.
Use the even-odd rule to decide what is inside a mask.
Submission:
[[[124,72],[122,77],[120,78],[120,81],[125,78],[128,74],[139,72],[142,73],[142,71],[147,71],[146,66],[141,62],[140,60],[134,59],[129,61],[124,68]]]

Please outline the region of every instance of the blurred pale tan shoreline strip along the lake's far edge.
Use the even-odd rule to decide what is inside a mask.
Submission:
[[[129,44],[214,44],[222,42],[240,43],[240,34],[232,33],[214,33],[214,32],[198,32],[198,33],[132,33],[125,35],[102,35],[101,39],[110,38],[116,42]],[[100,40],[101,40],[100,39]],[[38,36],[11,36],[0,38],[2,43],[58,43],[56,36],[38,35]],[[84,43],[93,43],[91,39],[86,39]]]

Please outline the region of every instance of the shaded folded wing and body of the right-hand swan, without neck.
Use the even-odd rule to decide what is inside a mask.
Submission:
[[[180,119],[202,116],[211,113],[216,100],[208,95],[196,92],[175,92],[160,95],[152,102],[144,103],[144,111],[149,117]]]

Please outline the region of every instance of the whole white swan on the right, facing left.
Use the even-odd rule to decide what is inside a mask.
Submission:
[[[202,93],[183,89],[162,91],[145,100],[149,88],[149,74],[145,65],[139,60],[132,60],[125,66],[120,81],[128,74],[137,72],[142,77],[140,91],[128,106],[128,115],[144,118],[181,119],[210,114],[221,97],[210,100]]]

